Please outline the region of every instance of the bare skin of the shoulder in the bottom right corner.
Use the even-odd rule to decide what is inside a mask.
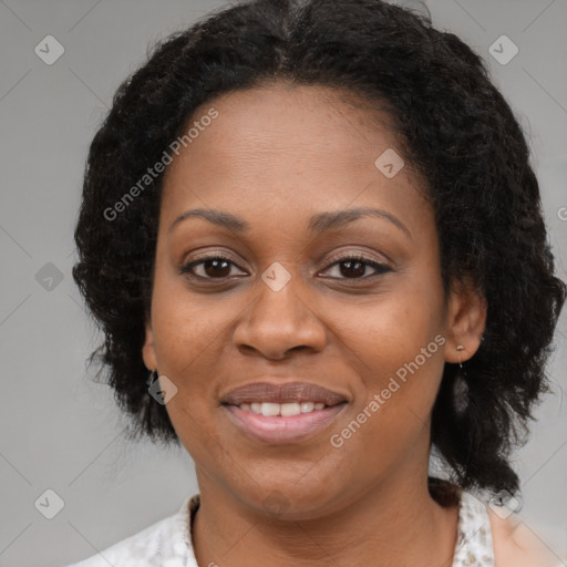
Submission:
[[[502,518],[487,506],[496,567],[559,567],[561,559],[518,517]]]

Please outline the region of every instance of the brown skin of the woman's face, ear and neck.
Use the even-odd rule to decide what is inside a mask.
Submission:
[[[381,566],[451,565],[457,512],[427,492],[430,416],[444,363],[480,346],[483,298],[468,286],[444,297],[433,210],[409,167],[393,178],[375,167],[400,144],[370,111],[322,86],[288,84],[225,94],[192,120],[212,106],[218,117],[165,175],[143,348],[146,367],[178,389],[166,409],[195,461],[199,565],[375,565],[377,549]],[[309,231],[312,215],[355,207],[384,209],[406,231],[379,217]],[[238,215],[249,229],[194,217],[169,231],[193,208]],[[200,264],[194,271],[207,280],[179,274],[205,252],[220,252],[230,270]],[[337,260],[352,254],[390,271],[359,274],[344,261],[341,270]],[[279,291],[261,279],[275,261],[291,277]],[[444,344],[331,446],[436,336]],[[266,379],[311,381],[349,403],[303,441],[260,443],[219,401]],[[266,505],[275,494],[282,511]]]

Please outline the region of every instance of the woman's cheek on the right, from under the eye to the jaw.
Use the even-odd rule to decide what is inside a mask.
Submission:
[[[357,373],[350,430],[362,445],[409,443],[429,420],[443,373],[440,285],[434,275],[399,281],[361,309],[336,311],[342,357]]]

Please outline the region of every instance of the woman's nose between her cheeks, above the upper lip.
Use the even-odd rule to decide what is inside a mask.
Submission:
[[[257,293],[233,337],[243,353],[256,352],[270,360],[282,360],[292,350],[320,352],[324,348],[326,328],[292,280],[278,291],[258,281]]]

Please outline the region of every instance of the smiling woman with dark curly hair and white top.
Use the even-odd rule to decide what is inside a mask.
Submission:
[[[75,238],[109,383],[199,486],[79,565],[560,565],[508,517],[508,455],[566,287],[455,35],[256,0],[168,38],[94,137]]]

